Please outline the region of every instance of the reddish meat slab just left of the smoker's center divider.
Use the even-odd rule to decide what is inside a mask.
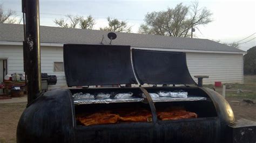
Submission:
[[[119,114],[122,121],[151,121],[152,115],[148,110],[136,110]]]

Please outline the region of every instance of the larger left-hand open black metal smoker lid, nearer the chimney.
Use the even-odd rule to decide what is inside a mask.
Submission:
[[[63,55],[69,87],[137,84],[130,46],[65,44]]]

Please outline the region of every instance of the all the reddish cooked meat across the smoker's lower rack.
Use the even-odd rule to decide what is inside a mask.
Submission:
[[[197,114],[188,112],[184,108],[168,108],[157,112],[157,117],[161,120],[178,120],[197,118]],[[86,115],[80,115],[77,120],[85,125],[97,125],[97,124],[113,124],[120,121],[152,121],[152,115],[150,110],[146,109],[117,109],[113,111],[99,111],[96,113],[87,113]]]

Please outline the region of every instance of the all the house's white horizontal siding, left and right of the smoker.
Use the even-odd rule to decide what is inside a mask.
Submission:
[[[187,65],[190,74],[208,75],[204,84],[213,84],[215,81],[243,82],[243,56],[242,54],[211,54],[187,53]],[[22,46],[0,45],[0,59],[8,59],[8,73],[23,73]],[[64,72],[54,72],[53,62],[63,61],[62,47],[41,48],[42,73],[57,75],[57,84],[50,85],[50,89],[66,86]],[[194,78],[197,82],[197,79]]]

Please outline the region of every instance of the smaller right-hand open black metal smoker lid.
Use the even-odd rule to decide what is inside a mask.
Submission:
[[[196,84],[186,53],[132,49],[132,61],[140,84]]]

